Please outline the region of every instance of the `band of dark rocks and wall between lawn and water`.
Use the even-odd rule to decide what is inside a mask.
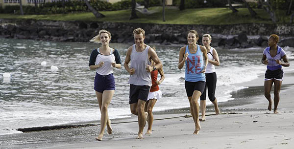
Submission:
[[[190,29],[212,35],[212,46],[249,48],[267,46],[270,34],[281,37],[281,46],[294,47],[294,25],[291,24],[231,24],[183,25],[97,21],[47,21],[0,19],[0,36],[13,39],[31,39],[58,42],[88,42],[100,29],[112,33],[113,43],[133,43],[132,31],[141,27],[146,32],[146,43],[185,44]],[[201,43],[201,38],[198,41]]]

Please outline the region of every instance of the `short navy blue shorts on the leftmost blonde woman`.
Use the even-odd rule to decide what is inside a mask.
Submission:
[[[96,73],[94,89],[100,93],[103,93],[104,90],[115,90],[113,73],[106,76],[102,76]]]

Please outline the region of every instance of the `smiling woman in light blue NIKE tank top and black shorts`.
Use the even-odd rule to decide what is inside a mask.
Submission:
[[[197,134],[201,128],[198,119],[199,103],[197,100],[204,90],[205,70],[208,64],[206,48],[197,44],[198,39],[198,33],[195,30],[190,30],[187,36],[188,45],[181,47],[178,63],[179,69],[182,69],[186,64],[185,89],[190,102],[190,112],[195,123],[193,134]]]

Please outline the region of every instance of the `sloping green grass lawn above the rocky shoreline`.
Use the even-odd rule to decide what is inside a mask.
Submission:
[[[13,15],[0,14],[3,19],[36,19],[57,21],[111,21],[111,22],[140,22],[161,24],[237,24],[237,23],[272,23],[270,15],[263,9],[254,9],[258,18],[252,18],[247,8],[238,8],[239,12],[232,13],[229,8],[198,8],[180,11],[175,8],[165,9],[165,20],[162,21],[162,7],[149,9],[158,12],[145,15],[137,12],[138,19],[129,20],[130,10],[101,11],[105,18],[97,19],[91,12],[55,14],[55,15]],[[280,13],[282,14],[282,13]],[[284,14],[284,13],[283,13]],[[290,17],[283,17],[279,23],[290,22]]]

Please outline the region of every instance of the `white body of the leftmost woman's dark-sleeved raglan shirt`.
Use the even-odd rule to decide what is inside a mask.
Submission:
[[[113,73],[113,66],[111,63],[115,63],[115,56],[113,54],[114,49],[111,49],[109,55],[103,55],[100,53],[99,48],[97,49],[98,55],[96,57],[97,64],[104,62],[104,65],[97,69],[97,73],[102,76],[106,76]]]

